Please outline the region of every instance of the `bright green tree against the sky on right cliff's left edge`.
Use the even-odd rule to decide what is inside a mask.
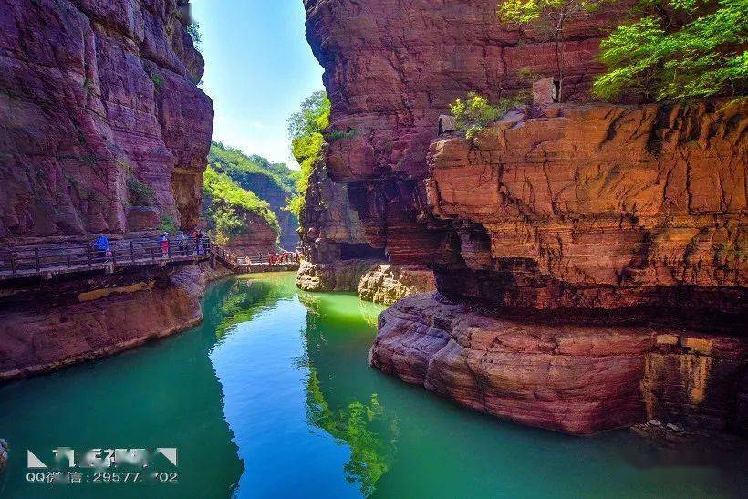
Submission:
[[[319,159],[325,137],[322,132],[330,123],[330,99],[324,90],[317,91],[304,99],[301,109],[288,119],[288,138],[291,140],[291,151],[301,166],[296,177],[296,195],[288,203],[288,210],[301,213],[304,205],[304,194],[309,187],[309,176],[314,164]]]

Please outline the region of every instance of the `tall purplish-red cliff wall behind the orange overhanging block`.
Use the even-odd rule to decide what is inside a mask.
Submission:
[[[441,224],[428,219],[421,179],[440,114],[476,90],[489,99],[529,92],[555,74],[547,36],[502,26],[495,2],[467,0],[306,0],[306,37],[325,68],[333,140],[327,171],[348,183],[370,245],[395,264],[431,260]],[[625,9],[625,5],[616,7]],[[616,13],[604,11],[565,29],[565,93],[587,99],[601,67],[597,45]]]

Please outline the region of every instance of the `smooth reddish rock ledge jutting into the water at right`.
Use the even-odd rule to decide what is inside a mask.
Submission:
[[[488,317],[438,294],[379,316],[369,364],[476,411],[574,434],[650,418],[746,430],[744,338]]]

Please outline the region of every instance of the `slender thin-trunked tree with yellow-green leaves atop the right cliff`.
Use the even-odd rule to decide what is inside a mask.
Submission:
[[[568,21],[595,12],[611,0],[504,0],[496,13],[499,20],[514,25],[535,26],[550,31],[556,46],[558,101],[564,86],[564,26]]]

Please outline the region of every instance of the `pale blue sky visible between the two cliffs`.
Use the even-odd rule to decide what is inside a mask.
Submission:
[[[302,0],[192,0],[213,99],[213,140],[296,168],[286,120],[323,88]]]

